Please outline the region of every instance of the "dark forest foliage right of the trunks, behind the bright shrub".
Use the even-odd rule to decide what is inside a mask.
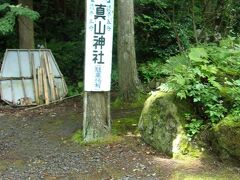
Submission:
[[[141,79],[149,82],[153,79],[153,63],[164,63],[193,44],[237,36],[239,7],[240,2],[232,0],[135,1],[137,57],[138,62],[143,63]]]

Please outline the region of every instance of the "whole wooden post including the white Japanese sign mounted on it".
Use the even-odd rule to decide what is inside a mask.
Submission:
[[[114,0],[86,0],[84,74],[85,142],[111,133],[110,87]]]

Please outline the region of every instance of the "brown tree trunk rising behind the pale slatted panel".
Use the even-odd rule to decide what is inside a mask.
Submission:
[[[29,9],[33,9],[32,0],[18,0],[19,4],[27,6]],[[27,17],[20,16],[18,18],[19,23],[19,48],[20,49],[34,49],[34,29],[33,21]]]

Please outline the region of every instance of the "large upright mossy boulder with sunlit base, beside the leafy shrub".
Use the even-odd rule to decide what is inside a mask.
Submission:
[[[138,129],[142,139],[157,150],[174,158],[199,156],[198,147],[189,142],[185,113],[191,107],[173,93],[154,92],[145,102]]]

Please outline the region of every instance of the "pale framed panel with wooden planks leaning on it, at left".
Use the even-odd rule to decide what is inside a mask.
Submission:
[[[49,49],[7,49],[0,71],[1,99],[13,106],[49,104],[67,95]]]

